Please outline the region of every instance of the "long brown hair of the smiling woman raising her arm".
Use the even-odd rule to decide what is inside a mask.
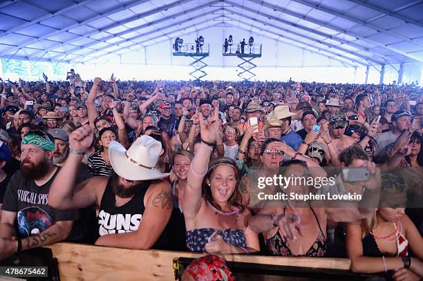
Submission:
[[[245,210],[245,207],[243,206],[243,197],[241,194],[241,191],[239,190],[239,183],[240,181],[240,175],[238,171],[238,167],[236,166],[236,162],[233,159],[227,158],[227,157],[218,157],[216,159],[213,159],[212,162],[209,164],[209,171],[207,171],[207,175],[205,176],[203,180],[203,198],[207,201],[209,201],[216,209],[220,209],[216,201],[214,201],[212,196],[212,190],[210,186],[207,184],[207,180],[210,180],[212,177],[212,174],[214,171],[216,171],[216,168],[220,165],[227,165],[232,166],[235,171],[235,177],[236,177],[236,185],[234,192],[229,197],[229,200],[227,200],[227,203],[231,206],[236,206],[240,213],[243,213]]]

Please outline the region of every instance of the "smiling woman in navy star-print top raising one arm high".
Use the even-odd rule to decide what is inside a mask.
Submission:
[[[202,143],[191,162],[182,200],[187,246],[212,254],[256,252],[259,240],[248,226],[250,211],[242,206],[236,163],[221,157],[209,164],[218,133],[216,120],[216,115],[200,119]]]

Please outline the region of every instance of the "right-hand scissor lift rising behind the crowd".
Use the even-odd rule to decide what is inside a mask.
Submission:
[[[243,71],[238,73],[238,76],[244,79],[244,81],[252,79],[256,76],[251,70],[256,68],[256,64],[252,63],[253,59],[261,57],[262,44],[245,44],[244,50],[241,48],[241,44],[233,44],[225,47],[223,45],[223,57],[239,57],[243,60],[241,64],[238,64],[238,68]]]

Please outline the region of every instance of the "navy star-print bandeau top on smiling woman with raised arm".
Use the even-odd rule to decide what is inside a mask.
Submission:
[[[194,252],[204,252],[205,244],[209,242],[209,237],[217,231],[217,234],[222,236],[223,241],[232,244],[239,248],[247,248],[245,234],[242,229],[225,229],[220,231],[218,229],[193,229],[187,231],[187,247]]]

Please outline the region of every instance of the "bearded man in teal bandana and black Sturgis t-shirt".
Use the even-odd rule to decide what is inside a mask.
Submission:
[[[41,130],[30,130],[22,139],[21,170],[10,179],[1,207],[0,260],[62,241],[71,233],[77,211],[48,206],[48,192],[59,171],[52,162],[54,150],[53,137]]]

